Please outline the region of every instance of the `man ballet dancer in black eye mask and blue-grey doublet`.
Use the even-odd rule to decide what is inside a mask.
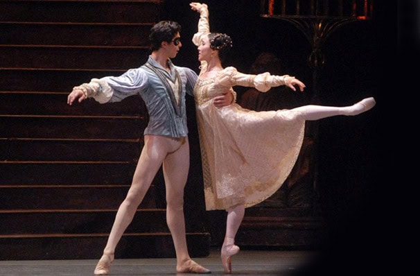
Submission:
[[[99,103],[112,103],[140,94],[150,117],[131,187],[116,213],[103,256],[94,270],[95,275],[108,275],[116,245],[161,165],[166,186],[166,220],[175,245],[177,273],[210,273],[191,259],[186,245],[183,207],[189,171],[189,140],[185,94],[193,95],[197,74],[170,61],[182,46],[180,31],[181,26],[177,22],[160,21],[150,29],[152,53],[143,66],[130,69],[118,77],[94,78],[90,83],[73,87],[67,98],[69,105],[76,100],[81,103],[89,97]],[[222,107],[232,101],[233,95],[227,93],[216,98],[214,104]]]

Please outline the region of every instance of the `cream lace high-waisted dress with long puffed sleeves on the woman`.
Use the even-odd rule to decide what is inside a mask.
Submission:
[[[199,32],[193,38],[196,45],[201,35],[209,33],[207,15],[203,8]],[[202,62],[200,76],[206,67]],[[218,108],[213,98],[235,85],[266,92],[284,85],[289,76],[242,74],[234,67],[219,71],[214,78],[200,76],[194,98],[206,209],[256,205],[272,196],[290,174],[304,139],[305,121],[292,110],[255,112],[236,103]]]

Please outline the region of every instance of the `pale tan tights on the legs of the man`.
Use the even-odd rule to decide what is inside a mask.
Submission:
[[[150,184],[161,164],[163,164],[166,185],[166,219],[177,257],[177,266],[183,266],[191,258],[186,246],[184,221],[184,187],[189,171],[188,138],[173,139],[155,135],[145,135],[145,144],[128,194],[116,213],[114,225],[104,255],[114,259],[117,243],[132,222]]]

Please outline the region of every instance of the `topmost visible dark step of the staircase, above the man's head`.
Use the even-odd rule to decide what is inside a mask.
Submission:
[[[159,21],[161,0],[0,1],[0,21],[150,23]]]

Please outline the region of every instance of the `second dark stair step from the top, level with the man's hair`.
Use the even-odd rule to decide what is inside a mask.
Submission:
[[[147,48],[151,27],[152,23],[0,22],[0,45]]]

